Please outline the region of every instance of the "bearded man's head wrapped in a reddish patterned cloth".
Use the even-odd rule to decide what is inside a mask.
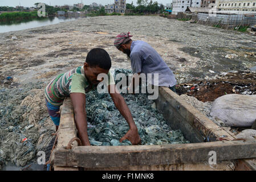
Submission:
[[[131,39],[130,32],[128,33],[121,33],[116,36],[114,41],[114,46],[119,49],[119,51],[122,51],[123,53],[127,54],[128,57],[130,57],[131,54]]]

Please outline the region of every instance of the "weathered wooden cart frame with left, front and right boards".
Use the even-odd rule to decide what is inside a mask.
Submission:
[[[235,137],[218,127],[202,113],[186,104],[177,94],[166,88],[159,89],[157,109],[173,129],[181,129],[192,142],[216,141],[218,137],[233,140]],[[234,165],[224,160],[255,158],[255,141],[225,141],[209,143],[172,144],[162,146],[83,146],[66,150],[71,138],[76,137],[76,128],[70,98],[64,101],[60,119],[58,146],[54,155],[55,167],[68,166],[104,170],[231,170]],[[96,150],[95,150],[96,147]],[[109,148],[110,147],[110,148]],[[182,148],[182,150],[181,150]],[[209,165],[209,151],[217,152],[218,164]],[[230,155],[230,151],[232,155]],[[218,155],[220,154],[220,155]],[[239,160],[243,161],[243,160]],[[238,163],[239,164],[239,163]],[[243,166],[250,163],[243,163]],[[229,166],[229,167],[228,167]],[[241,165],[240,165],[241,166]],[[77,169],[77,168],[72,168]]]

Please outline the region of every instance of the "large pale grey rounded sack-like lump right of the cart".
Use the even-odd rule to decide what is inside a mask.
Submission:
[[[217,98],[210,112],[226,126],[250,127],[256,119],[256,96],[227,94]]]

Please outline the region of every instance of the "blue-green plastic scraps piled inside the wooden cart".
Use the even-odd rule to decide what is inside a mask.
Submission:
[[[132,73],[126,69],[115,69],[116,73]],[[116,81],[116,80],[115,80]],[[189,143],[180,130],[172,130],[159,111],[152,108],[153,101],[148,94],[122,94],[133,120],[139,130],[141,144]],[[100,94],[94,90],[86,95],[88,137],[95,146],[131,145],[129,140],[122,143],[119,139],[129,130],[128,123],[116,109],[109,94]]]

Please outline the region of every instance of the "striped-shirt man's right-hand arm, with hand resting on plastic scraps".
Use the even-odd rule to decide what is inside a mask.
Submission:
[[[115,93],[111,93],[110,90],[115,90]],[[133,121],[131,111],[129,110],[127,104],[125,103],[123,96],[121,96],[121,94],[115,88],[115,85],[109,85],[108,92],[109,92],[110,96],[112,97],[112,100],[113,100],[116,108],[119,110],[121,115],[123,115],[123,117],[125,118],[125,120],[127,121],[128,125],[130,127],[129,131],[124,135],[123,138],[120,139],[120,142],[122,142],[125,139],[128,139],[128,140],[130,140],[130,142],[132,144],[141,143],[141,138],[138,133],[137,126],[135,125],[135,122]]]

